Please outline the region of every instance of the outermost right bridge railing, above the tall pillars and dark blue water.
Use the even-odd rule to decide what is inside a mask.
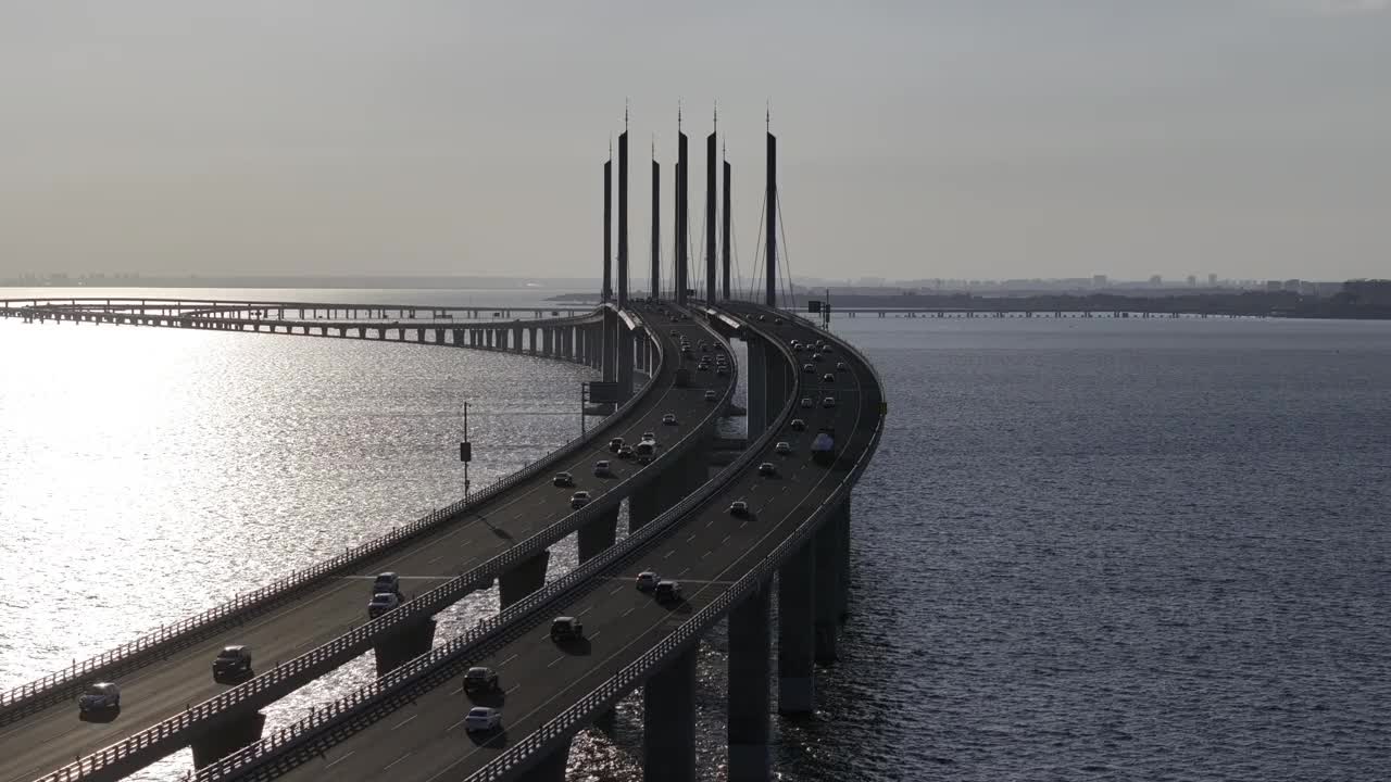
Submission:
[[[842,344],[844,344],[844,341],[842,341]],[[865,366],[869,366],[872,370],[871,365]],[[882,388],[883,387],[881,385],[881,398],[883,394]],[[761,559],[754,569],[744,573],[737,582],[711,601],[709,605],[691,615],[690,619],[683,622],[641,657],[625,665],[618,673],[583,696],[573,705],[548,719],[544,725],[541,725],[541,728],[533,731],[526,737],[499,753],[488,761],[487,765],[472,774],[467,778],[467,782],[498,782],[504,778],[509,778],[515,774],[526,771],[526,768],[544,758],[547,750],[552,749],[552,744],[558,746],[562,742],[570,742],[580,728],[593,724],[613,703],[623,699],[640,683],[647,680],[654,671],[669,665],[676,655],[684,651],[684,648],[691,643],[700,640],[700,637],[711,626],[719,622],[719,619],[723,618],[725,614],[727,614],[729,609],[733,608],[740,600],[751,591],[761,589],[762,584],[772,577],[773,572],[776,572],[778,568],[780,568],[782,564],[815,533],[826,513],[836,508],[843,501],[844,495],[854,487],[860,474],[864,473],[865,468],[869,465],[869,459],[874,456],[875,449],[879,447],[879,437],[883,431],[883,413],[879,413],[874,431],[869,434],[869,442],[860,458],[855,459],[850,472],[846,473],[846,477],[836,486],[836,490],[832,491],[830,495],[823,500],[817,509],[797,526],[796,530],[793,530],[793,534],[764,557],[764,559]]]

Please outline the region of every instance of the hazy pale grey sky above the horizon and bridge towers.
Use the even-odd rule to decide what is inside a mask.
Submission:
[[[746,271],[771,109],[796,276],[1384,277],[1388,85],[1391,0],[0,0],[0,277],[598,276],[625,102],[636,269],[718,104]]]

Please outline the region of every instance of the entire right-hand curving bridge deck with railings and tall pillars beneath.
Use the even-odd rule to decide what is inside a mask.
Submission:
[[[886,413],[883,384],[853,345],[810,321],[768,308],[727,303],[711,310],[750,351],[750,384],[771,391],[766,430],[730,468],[691,493],[643,534],[536,597],[542,607],[505,611],[510,628],[494,643],[460,647],[421,665],[413,676],[384,678],[275,735],[202,769],[200,782],[223,779],[534,779],[563,781],[573,735],[637,687],[645,687],[647,779],[694,775],[694,648],[719,619],[730,622],[730,779],[766,779],[769,772],[769,600],[780,573],[779,710],[814,705],[812,661],[833,658],[836,630],[847,612],[849,493],[872,458]],[[828,340],[846,372],[826,384],[823,373],[798,372],[789,341]],[[826,362],[819,362],[826,366]],[[759,366],[762,365],[762,366]],[[835,363],[830,365],[832,367]],[[804,374],[812,378],[804,380]],[[757,377],[762,376],[762,377]],[[842,378],[840,376],[847,376]],[[811,408],[803,406],[812,394]],[[819,404],[833,395],[833,408]],[[755,420],[750,399],[750,420]],[[800,415],[807,431],[790,429]],[[811,433],[836,430],[842,451],[829,468],[807,462]],[[773,442],[787,438],[793,454]],[[779,477],[755,474],[759,461],[779,463]],[[736,498],[747,519],[729,516]],[[693,584],[675,608],[634,591],[640,569],[655,566]],[[554,615],[584,619],[587,646],[555,647],[544,628]],[[593,628],[593,629],[590,629]],[[490,665],[504,687],[504,732],[463,737],[458,675]],[[389,719],[388,719],[389,717]],[[394,731],[409,721],[410,731]],[[344,763],[352,757],[352,763]]]

